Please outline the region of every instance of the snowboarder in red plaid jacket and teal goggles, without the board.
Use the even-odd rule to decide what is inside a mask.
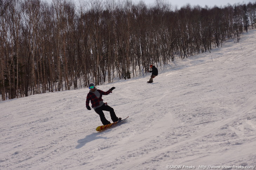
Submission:
[[[115,87],[112,87],[111,89],[109,89],[108,91],[105,92],[105,91],[96,89],[94,83],[90,83],[89,84],[89,89],[90,89],[90,91],[89,91],[89,93],[87,94],[87,97],[86,97],[86,108],[88,110],[91,110],[91,108],[89,106],[89,102],[91,101],[92,108],[94,109],[94,111],[97,114],[100,115],[100,120],[101,120],[103,125],[110,124],[110,121],[108,121],[105,118],[103,110],[110,112],[110,116],[111,116],[111,119],[112,119],[113,122],[121,120],[121,118],[116,117],[114,109],[111,108],[110,106],[108,106],[107,103],[104,103],[103,99],[102,99],[102,95],[108,95],[109,93],[112,93],[112,90],[114,90]]]

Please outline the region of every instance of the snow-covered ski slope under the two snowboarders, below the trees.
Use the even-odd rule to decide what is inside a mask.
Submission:
[[[2,101],[0,169],[256,169],[255,46],[250,30],[239,43],[158,66],[152,84],[147,74],[98,86],[116,87],[103,99],[129,116],[102,132],[85,107],[89,89]]]

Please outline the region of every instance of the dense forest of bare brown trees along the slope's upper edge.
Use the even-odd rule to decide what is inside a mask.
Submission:
[[[163,0],[0,0],[2,100],[142,74],[256,28],[256,2],[173,8]]]

